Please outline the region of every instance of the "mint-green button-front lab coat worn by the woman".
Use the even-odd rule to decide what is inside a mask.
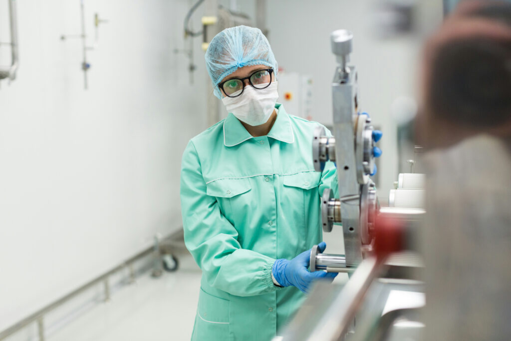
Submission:
[[[202,269],[192,340],[270,340],[305,299],[275,286],[271,268],[321,242],[320,196],[337,193],[337,177],[331,162],[314,171],[320,124],[275,108],[266,136],[252,137],[229,113],[184,151],[184,241]]]

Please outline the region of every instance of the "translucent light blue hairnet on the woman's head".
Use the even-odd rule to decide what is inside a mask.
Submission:
[[[206,69],[213,82],[215,96],[222,98],[218,83],[238,67],[266,65],[273,68],[275,77],[278,65],[270,43],[260,29],[236,26],[217,34],[207,47]]]

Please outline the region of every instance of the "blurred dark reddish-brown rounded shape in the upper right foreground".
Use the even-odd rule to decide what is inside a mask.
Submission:
[[[417,138],[426,150],[476,133],[508,135],[511,4],[465,1],[429,39]]]

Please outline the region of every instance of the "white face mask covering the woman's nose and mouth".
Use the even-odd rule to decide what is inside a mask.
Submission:
[[[254,89],[246,85],[243,94],[238,97],[224,97],[222,102],[227,112],[233,113],[240,121],[251,126],[268,121],[277,102],[277,82],[264,89]]]

